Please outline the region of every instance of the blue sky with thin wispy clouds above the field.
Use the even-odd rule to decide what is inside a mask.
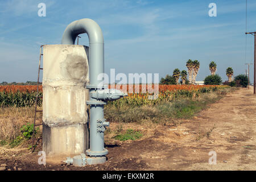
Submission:
[[[256,31],[256,1],[247,1],[247,31]],[[46,17],[38,16],[42,2]],[[212,2],[217,17],[208,15]],[[116,74],[159,73],[160,78],[196,59],[200,81],[210,75],[213,60],[225,81],[226,68],[236,76],[245,73],[245,57],[253,63],[254,39],[247,35],[246,44],[245,38],[245,0],[0,0],[0,17],[0,82],[35,81],[40,45],[60,44],[65,27],[82,18],[102,29],[106,73],[115,68]],[[88,45],[87,35],[81,37],[80,43]]]

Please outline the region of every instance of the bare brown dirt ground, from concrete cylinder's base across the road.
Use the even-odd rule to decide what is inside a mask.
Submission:
[[[253,88],[237,89],[179,126],[136,126],[147,136],[137,141],[109,141],[108,161],[86,167],[38,164],[37,152],[6,151],[6,170],[256,170],[256,96]],[[110,123],[110,125],[117,125]],[[126,127],[135,127],[129,124]],[[134,125],[134,126],[132,126]],[[106,139],[108,141],[108,139]],[[40,150],[40,148],[39,148]],[[209,164],[209,152],[216,164]]]

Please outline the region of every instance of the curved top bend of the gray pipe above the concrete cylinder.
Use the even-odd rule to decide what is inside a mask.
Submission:
[[[89,43],[102,43],[104,44],[104,38],[100,26],[94,20],[84,18],[76,20],[70,23],[65,29],[61,44],[75,44],[77,35],[88,34]]]

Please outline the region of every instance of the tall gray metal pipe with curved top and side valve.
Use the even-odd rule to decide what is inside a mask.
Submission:
[[[64,31],[61,44],[75,44],[77,35],[84,33],[89,37],[90,77],[90,84],[86,85],[90,95],[90,100],[86,101],[86,104],[90,105],[90,148],[86,150],[86,155],[99,157],[90,159],[94,160],[90,163],[96,164],[102,163],[105,158],[102,160],[101,156],[108,154],[108,150],[104,148],[104,131],[109,122],[104,119],[104,105],[106,101],[117,100],[126,94],[115,89],[104,89],[102,80],[97,80],[98,75],[104,73],[104,38],[96,22],[85,18],[70,23]]]

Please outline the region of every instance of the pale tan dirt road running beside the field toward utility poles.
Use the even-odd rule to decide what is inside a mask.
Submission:
[[[153,150],[157,159],[150,158],[150,152],[141,154],[150,169],[256,169],[256,97],[252,87],[227,94],[172,131],[180,139],[168,143],[167,150]],[[210,151],[216,152],[216,165],[209,164]]]

